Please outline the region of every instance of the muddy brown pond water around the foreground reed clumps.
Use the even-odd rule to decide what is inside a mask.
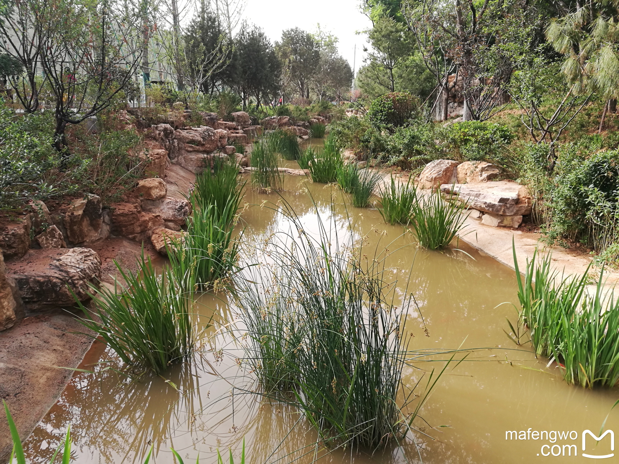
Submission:
[[[410,234],[399,226],[386,225],[378,210],[344,207],[345,196],[331,186],[311,184],[299,176],[286,176],[283,197],[290,202],[308,230],[316,227],[311,192],[319,212],[335,217],[344,228],[348,215],[356,227],[353,238],[368,234],[370,245],[392,243],[397,250],[391,264],[413,263],[409,290],[415,294],[421,314],[412,311],[407,330],[413,332],[415,350],[461,348],[470,352],[457,367],[452,364],[439,380],[422,409],[421,431],[415,435],[420,449],[409,439],[401,446],[369,455],[337,450],[319,459],[321,463],[529,463],[546,460],[590,462],[582,457],[581,437],[586,429],[596,433],[617,400],[617,390],[585,390],[566,385],[547,360],[536,360],[529,348],[514,345],[503,332],[506,317],[514,321],[516,278],[513,270],[483,256],[464,243],[461,251],[431,252],[418,249]],[[274,194],[247,190],[245,200],[253,206],[243,213],[247,241],[287,227],[281,213],[268,207]],[[386,231],[386,237],[381,236]],[[197,324],[206,327],[210,317],[218,324],[234,318],[225,298],[201,296]],[[508,302],[510,304],[501,304]],[[422,315],[428,336],[424,333]],[[116,359],[101,343],[95,343],[80,366],[95,374],[76,372],[62,397],[25,442],[30,463],[47,463],[71,424],[75,440],[73,456],[82,463],[142,463],[154,447],[155,463],[173,463],[170,447],[185,462],[216,463],[217,449],[232,447],[240,462],[243,438],[251,464],[308,463],[316,434],[297,411],[282,405],[267,405],[240,389],[251,385],[251,373],[236,364],[242,353],[231,335],[216,335],[217,324],[206,329],[200,355],[170,369],[165,378],[150,377],[134,382],[115,372],[102,371],[95,363]],[[206,337],[215,335],[214,337]],[[438,356],[444,359],[446,356]],[[443,364],[416,364],[425,371]],[[409,368],[404,382],[413,385],[420,371]],[[251,388],[251,387],[249,387]],[[425,422],[424,422],[425,421]],[[619,432],[619,408],[610,413],[607,429]],[[506,431],[567,432],[566,439],[506,439]],[[576,439],[571,439],[574,432]],[[426,434],[426,436],[424,435]],[[552,439],[552,434],[551,437]],[[567,445],[568,447],[564,447]],[[575,445],[575,447],[570,447]],[[543,447],[545,446],[545,447]],[[542,448],[543,447],[543,448]],[[574,450],[578,456],[574,457]],[[565,457],[562,453],[565,452]],[[572,455],[567,456],[570,452]],[[606,437],[595,447],[587,439],[591,455],[606,455]],[[301,456],[303,453],[308,453]],[[544,454],[548,453],[545,457]],[[560,453],[553,457],[552,453]],[[603,462],[614,462],[613,457]]]

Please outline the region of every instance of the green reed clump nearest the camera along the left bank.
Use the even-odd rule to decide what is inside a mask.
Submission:
[[[89,295],[99,320],[89,319],[89,311],[79,304],[86,317],[80,322],[101,337],[124,363],[136,369],[161,374],[172,363],[186,358],[194,347],[191,323],[194,290],[191,275],[174,266],[161,276],[145,258],[137,260],[139,272],[123,270],[115,261],[126,286],[91,286]]]

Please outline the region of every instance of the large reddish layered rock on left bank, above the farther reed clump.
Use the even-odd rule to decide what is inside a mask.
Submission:
[[[178,157],[175,163],[196,174],[204,171],[206,156],[220,146],[220,134],[207,126],[179,129],[175,134],[178,140]]]

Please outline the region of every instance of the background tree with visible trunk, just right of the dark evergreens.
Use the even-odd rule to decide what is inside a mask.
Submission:
[[[320,60],[320,47],[314,37],[298,27],[287,29],[282,32],[282,40],[275,43],[275,51],[300,97],[309,98],[309,82]]]

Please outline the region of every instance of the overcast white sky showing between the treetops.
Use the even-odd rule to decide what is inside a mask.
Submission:
[[[372,23],[359,9],[360,0],[247,0],[245,19],[264,29],[275,42],[282,37],[282,30],[300,27],[315,32],[319,23],[322,30],[339,38],[340,54],[353,66],[357,45],[356,68],[363,64],[363,46],[366,35],[357,35],[371,28]],[[366,45],[367,46],[367,45]]]

